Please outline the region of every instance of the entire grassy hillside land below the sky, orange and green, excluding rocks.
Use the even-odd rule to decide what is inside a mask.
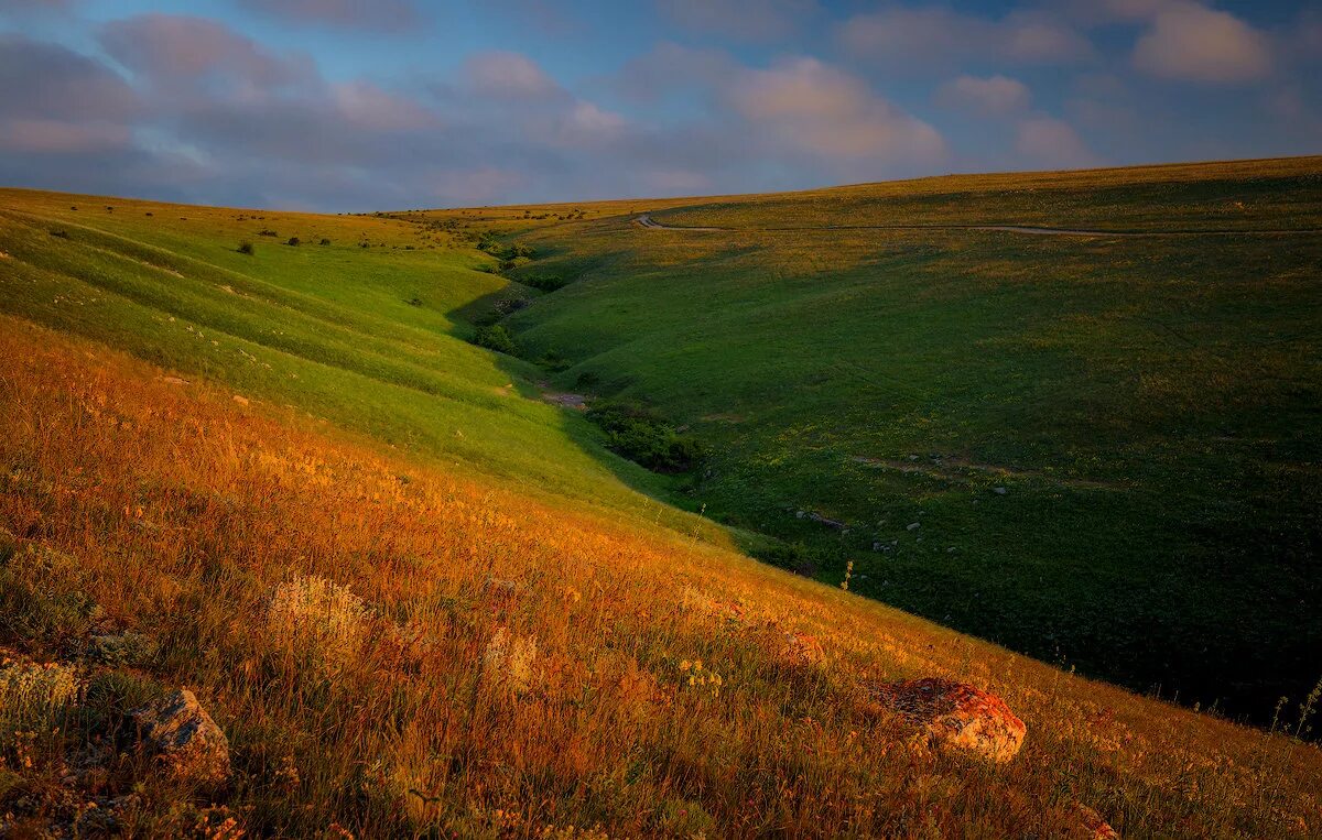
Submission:
[[[1322,239],[820,230],[1100,226],[1103,188],[1125,228],[1154,194],[1306,228],[1315,172],[1040,176],[1042,215],[1007,178],[353,217],[0,190],[0,833],[1317,835]],[[517,355],[467,341],[504,313]],[[543,391],[709,454],[644,470]],[[1001,696],[1019,755],[876,700],[921,676]],[[223,787],[134,746],[177,687]]]

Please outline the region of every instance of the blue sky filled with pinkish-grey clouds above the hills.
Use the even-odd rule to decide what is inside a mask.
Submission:
[[[1322,153],[1309,0],[0,0],[0,185],[362,211]]]

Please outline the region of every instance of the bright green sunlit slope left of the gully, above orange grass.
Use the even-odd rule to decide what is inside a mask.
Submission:
[[[255,255],[238,252],[243,240]],[[605,453],[580,417],[524,399],[537,370],[463,341],[471,325],[455,313],[509,283],[455,234],[0,190],[0,252],[5,312],[529,493],[646,508],[722,539],[629,490],[661,482]]]

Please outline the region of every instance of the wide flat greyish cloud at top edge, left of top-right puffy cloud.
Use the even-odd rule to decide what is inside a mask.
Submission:
[[[910,67],[956,61],[1073,63],[1093,55],[1088,40],[1068,22],[1036,11],[990,18],[947,8],[891,7],[850,18],[839,41],[859,58]]]

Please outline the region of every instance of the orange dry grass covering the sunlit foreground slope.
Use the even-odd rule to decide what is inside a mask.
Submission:
[[[0,523],[79,567],[26,602],[81,593],[159,647],[136,670],[79,666],[99,711],[32,767],[3,753],[21,782],[0,786],[0,825],[71,819],[50,792],[62,762],[132,695],[182,684],[230,738],[226,807],[181,822],[194,791],[107,755],[79,795],[132,794],[132,833],[1052,836],[1080,802],[1133,836],[1322,831],[1314,746],[21,321],[0,322]],[[13,604],[0,645],[28,655],[67,658],[90,633],[89,610],[13,622]],[[1029,726],[1019,757],[932,752],[859,689],[928,675],[1005,697]]]

